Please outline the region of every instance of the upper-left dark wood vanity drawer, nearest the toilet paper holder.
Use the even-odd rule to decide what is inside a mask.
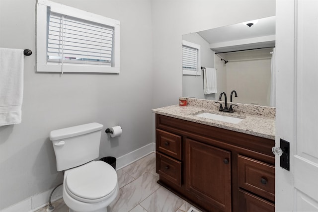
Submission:
[[[181,136],[156,129],[156,137],[158,151],[181,160]]]

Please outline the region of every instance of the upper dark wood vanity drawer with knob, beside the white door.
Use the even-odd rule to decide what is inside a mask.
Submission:
[[[238,155],[239,187],[275,201],[275,167]]]

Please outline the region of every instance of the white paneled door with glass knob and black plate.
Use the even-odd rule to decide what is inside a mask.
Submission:
[[[318,0],[276,0],[276,71],[275,210],[318,212]]]

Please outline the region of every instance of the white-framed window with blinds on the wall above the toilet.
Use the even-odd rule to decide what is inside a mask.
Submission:
[[[49,0],[37,3],[37,71],[119,73],[119,26]]]

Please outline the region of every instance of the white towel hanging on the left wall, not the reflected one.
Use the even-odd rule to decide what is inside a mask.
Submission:
[[[0,48],[0,126],[21,123],[23,50]]]

